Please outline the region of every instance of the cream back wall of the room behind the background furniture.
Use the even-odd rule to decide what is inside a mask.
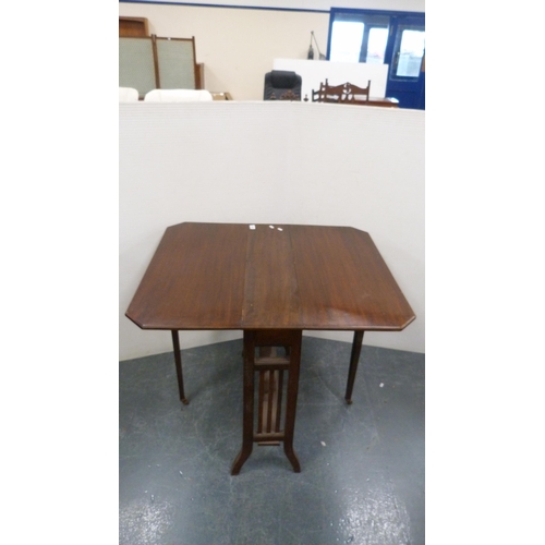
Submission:
[[[246,3],[259,4],[252,0]],[[261,3],[281,5],[286,2],[263,0]],[[314,9],[328,10],[331,3],[324,0]],[[424,0],[360,0],[334,5],[424,11]],[[274,59],[306,59],[312,31],[319,50],[324,55],[327,52],[327,11],[312,13],[120,2],[119,14],[147,17],[149,33],[157,36],[195,36],[196,59],[205,65],[205,87],[213,92],[229,92],[235,100],[263,98],[264,76],[272,70]],[[314,44],[313,47],[317,58]]]

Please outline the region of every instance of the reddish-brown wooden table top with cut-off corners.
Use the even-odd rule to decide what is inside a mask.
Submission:
[[[396,331],[415,318],[364,231],[193,222],[166,230],[125,315],[143,329]]]

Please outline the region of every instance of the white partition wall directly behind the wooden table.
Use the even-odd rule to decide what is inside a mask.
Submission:
[[[424,112],[304,102],[125,102],[120,109],[120,360],[171,350],[124,312],[182,221],[367,231],[416,314],[364,343],[424,352]],[[307,332],[350,341],[348,332]],[[185,331],[182,348],[240,337]]]

